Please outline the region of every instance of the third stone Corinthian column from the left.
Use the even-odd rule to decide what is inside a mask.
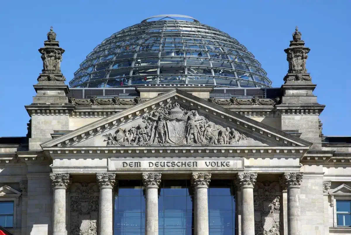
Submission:
[[[161,173],[144,173],[146,191],[145,235],[158,235],[158,187]]]

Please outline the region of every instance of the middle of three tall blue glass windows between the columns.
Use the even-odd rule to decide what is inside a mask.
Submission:
[[[192,235],[193,204],[190,181],[165,180],[160,184],[158,231],[160,235]]]

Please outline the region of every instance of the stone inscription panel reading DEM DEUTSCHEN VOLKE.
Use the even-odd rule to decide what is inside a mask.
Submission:
[[[244,170],[241,158],[110,158],[111,171],[230,171]]]

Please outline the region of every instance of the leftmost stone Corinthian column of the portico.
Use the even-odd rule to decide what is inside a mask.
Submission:
[[[66,189],[69,183],[68,174],[50,174],[51,185],[54,190],[52,234],[67,235],[66,230]]]

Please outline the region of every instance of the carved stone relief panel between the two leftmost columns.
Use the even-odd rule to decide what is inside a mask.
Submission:
[[[99,215],[99,189],[96,183],[73,183],[69,215],[70,235],[96,235]]]

